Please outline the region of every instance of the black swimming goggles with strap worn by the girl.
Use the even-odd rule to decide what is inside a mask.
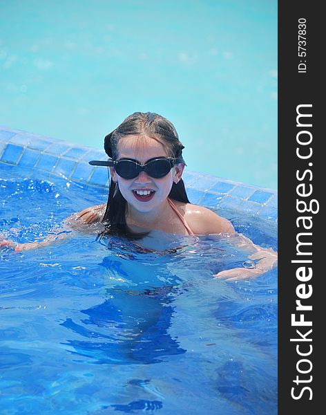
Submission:
[[[133,160],[132,158],[120,158],[120,160],[108,161],[92,160],[88,163],[93,166],[114,167],[120,177],[128,180],[136,178],[140,172],[146,172],[148,176],[153,178],[164,177],[175,164],[184,163],[184,159],[182,157],[155,157],[148,160],[144,165],[141,165],[137,160]]]

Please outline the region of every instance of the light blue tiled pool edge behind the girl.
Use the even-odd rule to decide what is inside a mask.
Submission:
[[[108,187],[108,172],[89,160],[106,160],[104,150],[79,147],[64,140],[39,136],[0,126],[0,171],[6,164],[42,172],[42,178],[59,176],[96,187]],[[0,174],[1,177],[1,174]],[[238,211],[277,222],[275,190],[184,170],[184,183],[191,203],[213,210]]]

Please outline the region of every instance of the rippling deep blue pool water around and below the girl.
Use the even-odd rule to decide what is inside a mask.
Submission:
[[[1,164],[0,201],[6,237],[34,241],[106,190]],[[277,249],[275,223],[219,213]],[[276,270],[220,281],[247,258],[227,239],[160,234],[148,253],[97,232],[1,251],[1,413],[276,414]]]

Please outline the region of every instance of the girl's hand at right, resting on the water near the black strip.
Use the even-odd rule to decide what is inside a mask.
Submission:
[[[245,261],[242,267],[233,268],[231,270],[220,271],[220,273],[213,275],[215,278],[226,279],[227,281],[235,281],[237,279],[256,278],[258,275],[267,273],[276,267],[278,261],[278,254],[271,248],[260,248],[249,259],[258,259],[256,265],[253,261]]]

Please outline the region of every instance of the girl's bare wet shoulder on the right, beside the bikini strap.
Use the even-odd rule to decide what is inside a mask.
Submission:
[[[182,208],[184,219],[194,234],[235,233],[232,223],[212,210],[191,203],[184,203]]]

